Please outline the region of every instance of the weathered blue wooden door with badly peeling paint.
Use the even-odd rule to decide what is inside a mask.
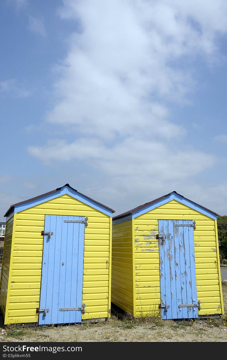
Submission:
[[[187,307],[197,303],[193,222],[159,220],[158,228],[162,319],[198,318],[198,307]]]

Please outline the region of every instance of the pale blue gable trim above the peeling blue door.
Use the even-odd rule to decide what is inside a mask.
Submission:
[[[185,199],[183,196],[181,196],[180,194],[176,194],[176,193],[171,193],[171,194],[167,195],[166,197],[164,197],[163,199],[161,199],[153,204],[147,205],[146,207],[143,207],[140,210],[133,212],[132,219],[135,219],[136,217],[138,217],[142,214],[145,214],[148,211],[154,210],[155,208],[157,208],[161,205],[164,205],[171,200],[176,200],[176,201],[182,203],[183,205],[186,205],[186,206],[192,208],[193,210],[199,211],[202,214],[204,214],[208,217],[211,217],[214,220],[217,220],[217,216],[215,214],[213,214],[212,212],[204,209],[202,206],[199,206],[190,200]]]

